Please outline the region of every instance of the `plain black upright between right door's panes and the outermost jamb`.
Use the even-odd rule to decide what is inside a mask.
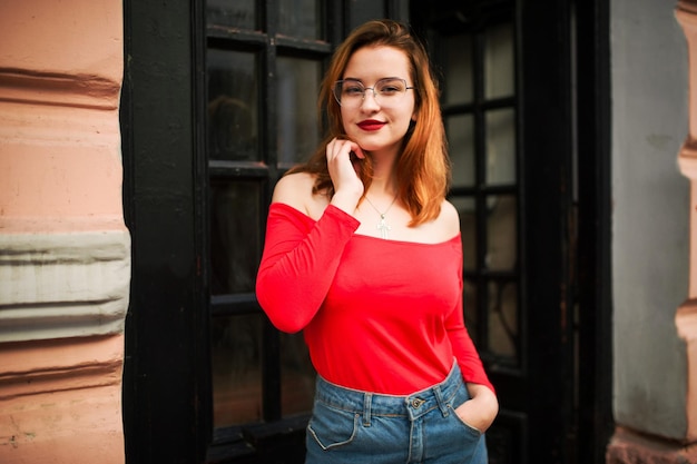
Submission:
[[[571,462],[573,107],[568,2],[521,2],[519,95],[528,463]]]

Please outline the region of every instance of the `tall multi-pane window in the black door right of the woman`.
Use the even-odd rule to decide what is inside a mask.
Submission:
[[[520,364],[512,18],[440,29],[442,108],[462,221],[465,319],[482,357]]]

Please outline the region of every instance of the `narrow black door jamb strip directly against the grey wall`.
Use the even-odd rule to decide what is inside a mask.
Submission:
[[[612,417],[610,6],[572,3],[577,40],[579,463],[605,463]]]

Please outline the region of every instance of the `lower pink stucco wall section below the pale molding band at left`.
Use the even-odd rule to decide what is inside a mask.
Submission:
[[[122,463],[122,335],[4,344],[0,462]]]

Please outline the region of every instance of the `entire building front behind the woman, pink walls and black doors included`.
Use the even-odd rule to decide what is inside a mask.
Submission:
[[[303,462],[271,191],[333,48],[442,80],[497,463],[697,463],[697,2],[0,1],[0,462]]]

